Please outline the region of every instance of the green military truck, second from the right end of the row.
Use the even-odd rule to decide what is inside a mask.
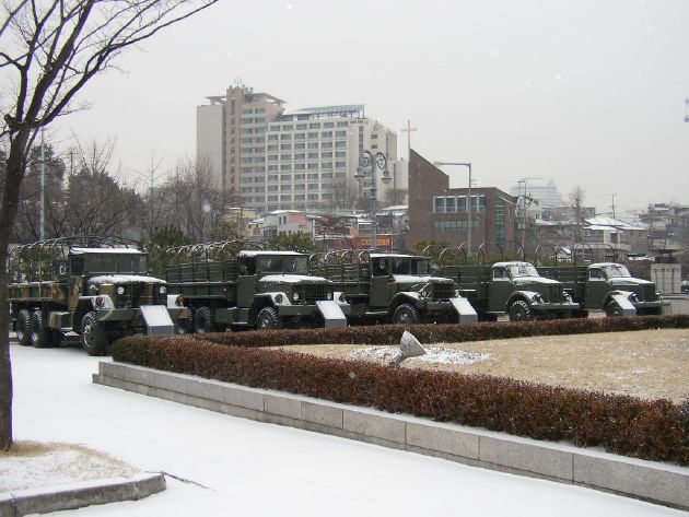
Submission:
[[[440,271],[459,284],[481,320],[494,321],[505,314],[511,321],[580,316],[579,304],[562,284],[540,277],[528,262],[445,265]]]

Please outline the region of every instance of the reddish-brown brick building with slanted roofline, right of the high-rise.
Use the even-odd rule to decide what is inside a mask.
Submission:
[[[449,177],[414,152],[409,158],[410,246],[421,240],[446,240],[457,246],[467,240],[471,224],[474,247],[486,245],[488,252],[502,248],[514,251],[515,198],[494,187],[471,189],[471,221],[467,205],[468,188],[449,188]]]

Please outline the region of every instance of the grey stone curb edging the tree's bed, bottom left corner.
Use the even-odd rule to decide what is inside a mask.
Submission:
[[[71,483],[0,493],[0,517],[22,517],[48,514],[84,506],[137,501],[165,490],[165,475],[160,472],[141,473],[133,478]]]

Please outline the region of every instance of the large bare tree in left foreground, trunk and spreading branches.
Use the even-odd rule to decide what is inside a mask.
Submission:
[[[8,157],[0,207],[0,263],[7,262],[21,183],[37,132],[69,114],[77,94],[116,59],[218,0],[5,0],[0,9],[0,144]],[[7,270],[0,268],[0,329],[8,328]],[[12,446],[12,369],[0,332],[0,450]]]

